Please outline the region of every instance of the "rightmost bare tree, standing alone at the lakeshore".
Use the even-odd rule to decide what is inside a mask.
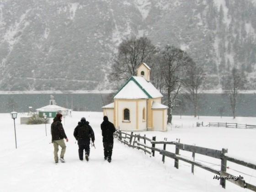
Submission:
[[[224,94],[229,98],[229,104],[232,110],[233,118],[236,116],[236,107],[239,89],[242,89],[245,85],[245,76],[235,67],[231,70],[231,73],[224,79]]]

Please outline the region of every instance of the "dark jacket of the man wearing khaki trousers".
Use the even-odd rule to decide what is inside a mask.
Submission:
[[[52,141],[59,139],[67,139],[66,133],[61,123],[61,119],[54,117],[53,123],[51,125]]]

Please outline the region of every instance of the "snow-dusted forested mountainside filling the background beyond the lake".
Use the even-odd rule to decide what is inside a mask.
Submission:
[[[256,89],[255,0],[0,0],[0,91],[111,89],[113,54],[133,36],[185,50],[204,89],[233,66]]]

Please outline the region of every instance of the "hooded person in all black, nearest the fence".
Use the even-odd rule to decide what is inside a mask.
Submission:
[[[104,159],[110,163],[114,145],[113,133],[115,133],[116,128],[113,123],[108,121],[107,116],[103,117],[103,122],[101,123],[101,131],[103,137],[102,142],[104,148]]]

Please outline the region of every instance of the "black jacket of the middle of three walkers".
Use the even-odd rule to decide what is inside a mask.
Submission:
[[[84,120],[81,120],[80,122],[78,122],[78,125],[74,130],[74,137],[76,140],[78,140],[78,144],[81,141],[89,141],[89,142],[90,140],[92,142],[95,141],[94,132],[91,126],[89,125],[89,122]]]

